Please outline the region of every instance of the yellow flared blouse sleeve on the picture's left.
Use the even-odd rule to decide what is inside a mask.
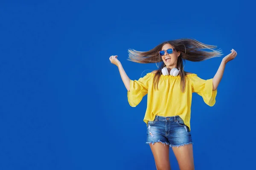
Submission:
[[[127,92],[128,102],[131,107],[136,107],[143,96],[148,94],[148,81],[150,74],[146,74],[138,80],[130,80],[130,91]]]

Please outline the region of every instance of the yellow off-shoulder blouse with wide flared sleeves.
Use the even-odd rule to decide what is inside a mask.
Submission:
[[[147,109],[143,121],[153,121],[155,116],[177,116],[183,119],[185,125],[190,128],[190,112],[192,93],[197,93],[209,105],[215,105],[217,89],[212,91],[212,79],[201,79],[197,74],[186,75],[185,93],[180,89],[180,76],[161,75],[158,90],[154,89],[153,73],[148,73],[138,80],[130,80],[128,102],[131,107],[136,107],[143,96],[148,94]]]

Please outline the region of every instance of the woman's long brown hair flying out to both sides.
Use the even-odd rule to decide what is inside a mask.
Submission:
[[[158,67],[156,74],[154,75],[154,88],[157,85],[158,89],[158,82],[160,76],[162,74],[162,68],[166,65],[164,64],[162,57],[159,55],[159,51],[162,50],[163,45],[170,44],[172,45],[176,51],[180,51],[180,56],[177,59],[177,67],[180,69],[179,76],[181,77],[180,87],[181,91],[184,93],[186,80],[185,75],[186,72],[183,68],[183,62],[185,60],[199,62],[204,61],[206,59],[210,59],[213,57],[221,57],[221,50],[214,50],[216,48],[215,45],[207,45],[202,42],[199,42],[195,39],[177,39],[177,40],[170,40],[166,42],[162,42],[161,44],[157,45],[153,49],[149,51],[136,51],[136,50],[128,50],[128,60],[137,63],[157,63],[162,62],[161,66]],[[211,51],[202,51],[202,49],[209,49]]]

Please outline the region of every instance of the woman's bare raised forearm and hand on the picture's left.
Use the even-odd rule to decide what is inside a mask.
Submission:
[[[109,60],[111,61],[112,64],[116,65],[118,67],[120,76],[122,78],[122,81],[125,84],[125,88],[127,89],[127,91],[130,91],[130,78],[127,76],[127,74],[125,73],[124,68],[122,67],[121,62],[116,58],[117,56],[111,56],[109,58]]]

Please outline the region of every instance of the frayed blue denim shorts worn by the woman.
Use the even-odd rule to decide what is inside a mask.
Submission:
[[[146,144],[155,142],[168,144],[169,147],[193,144],[189,127],[184,124],[180,116],[155,116],[154,121],[148,122]]]

